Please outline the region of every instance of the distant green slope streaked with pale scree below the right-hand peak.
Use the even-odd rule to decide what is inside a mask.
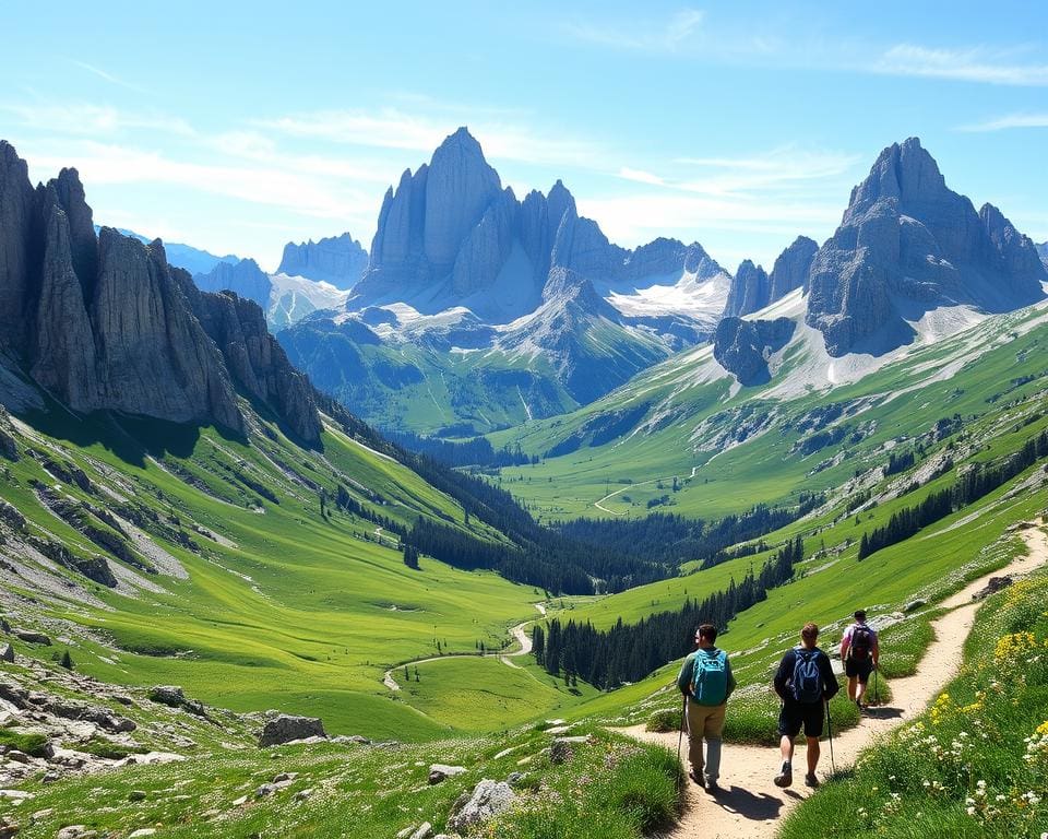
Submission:
[[[1000,402],[1038,391],[1045,330],[1025,331],[1027,322],[1037,317],[1039,312],[1023,311],[980,327],[980,343],[992,348],[964,364],[953,378],[932,380],[949,361],[965,357],[970,336],[921,347],[860,382],[789,403],[765,399],[763,388],[745,388],[730,395],[728,380],[696,381],[701,365],[694,358],[702,358],[704,351],[681,354],[577,412],[490,435],[497,447],[520,442],[526,453],[543,454],[587,421],[623,406],[648,405],[640,430],[603,446],[583,446],[538,465],[504,469],[502,485],[533,505],[537,513],[555,519],[607,515],[594,503],[618,489],[622,492],[604,501],[614,515],[644,516],[650,499],[669,494],[672,506],[659,509],[716,518],[757,500],[785,503],[801,491],[838,486],[856,469],[883,460],[885,447],[927,432],[940,418],[955,413],[981,415]],[[1017,385],[1024,376],[1031,380]],[[798,417],[831,402],[859,399],[870,400],[872,406],[845,422],[853,427],[874,422],[876,428],[858,444],[842,442],[803,457],[790,451],[801,436],[796,428],[774,426],[766,434],[719,450],[716,457],[714,451],[694,450],[696,442],[702,442],[693,439],[695,428],[724,412],[731,412],[726,423],[739,425],[772,411]],[[991,399],[998,402],[988,402]],[[735,412],[742,412],[745,420]],[[708,433],[707,426],[704,434]],[[830,462],[837,452],[839,459]],[[814,471],[817,465],[822,468]],[[677,493],[668,487],[674,475],[683,482]],[[663,480],[663,488],[656,485],[658,480]]]

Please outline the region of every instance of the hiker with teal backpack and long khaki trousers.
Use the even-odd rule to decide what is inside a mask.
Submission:
[[[715,646],[717,628],[703,624],[695,630],[699,649],[684,659],[677,677],[677,687],[687,697],[688,777],[707,792],[717,792],[720,775],[720,732],[728,697],[735,690],[731,662]],[[702,758],[702,741],[706,741],[706,759]]]

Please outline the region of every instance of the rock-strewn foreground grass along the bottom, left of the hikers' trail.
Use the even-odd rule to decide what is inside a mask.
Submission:
[[[551,735],[531,728],[498,738],[386,748],[219,748],[184,763],[132,766],[60,784],[32,781],[24,784],[35,795],[32,810],[45,815],[26,819],[21,811],[29,805],[0,800],[0,817],[17,817],[19,836],[28,839],[50,839],[71,824],[117,835],[152,827],[176,839],[394,836],[422,822],[443,829],[461,793],[472,791],[481,778],[519,772],[517,803],[499,817],[491,828],[495,835],[640,839],[671,823],[680,771],[675,755],[604,731],[588,733],[590,742],[573,744],[569,759],[558,764],[549,758]],[[432,763],[467,771],[430,785]],[[286,789],[255,795],[282,772],[298,776]],[[306,794],[296,800],[298,793]],[[246,801],[237,803],[242,797]]]

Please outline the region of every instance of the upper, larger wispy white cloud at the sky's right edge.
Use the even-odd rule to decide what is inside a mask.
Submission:
[[[871,66],[889,75],[953,79],[986,84],[1048,85],[1048,64],[1017,63],[1015,50],[972,47],[939,49],[917,44],[897,44]]]

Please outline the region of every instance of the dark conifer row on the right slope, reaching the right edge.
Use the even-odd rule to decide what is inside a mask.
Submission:
[[[919,504],[892,513],[888,524],[862,533],[859,559],[881,548],[904,542],[917,531],[968,506],[1029,469],[1048,456],[1048,432],[1031,437],[1023,447],[1007,458],[990,463],[973,463],[952,487],[930,493]]]

